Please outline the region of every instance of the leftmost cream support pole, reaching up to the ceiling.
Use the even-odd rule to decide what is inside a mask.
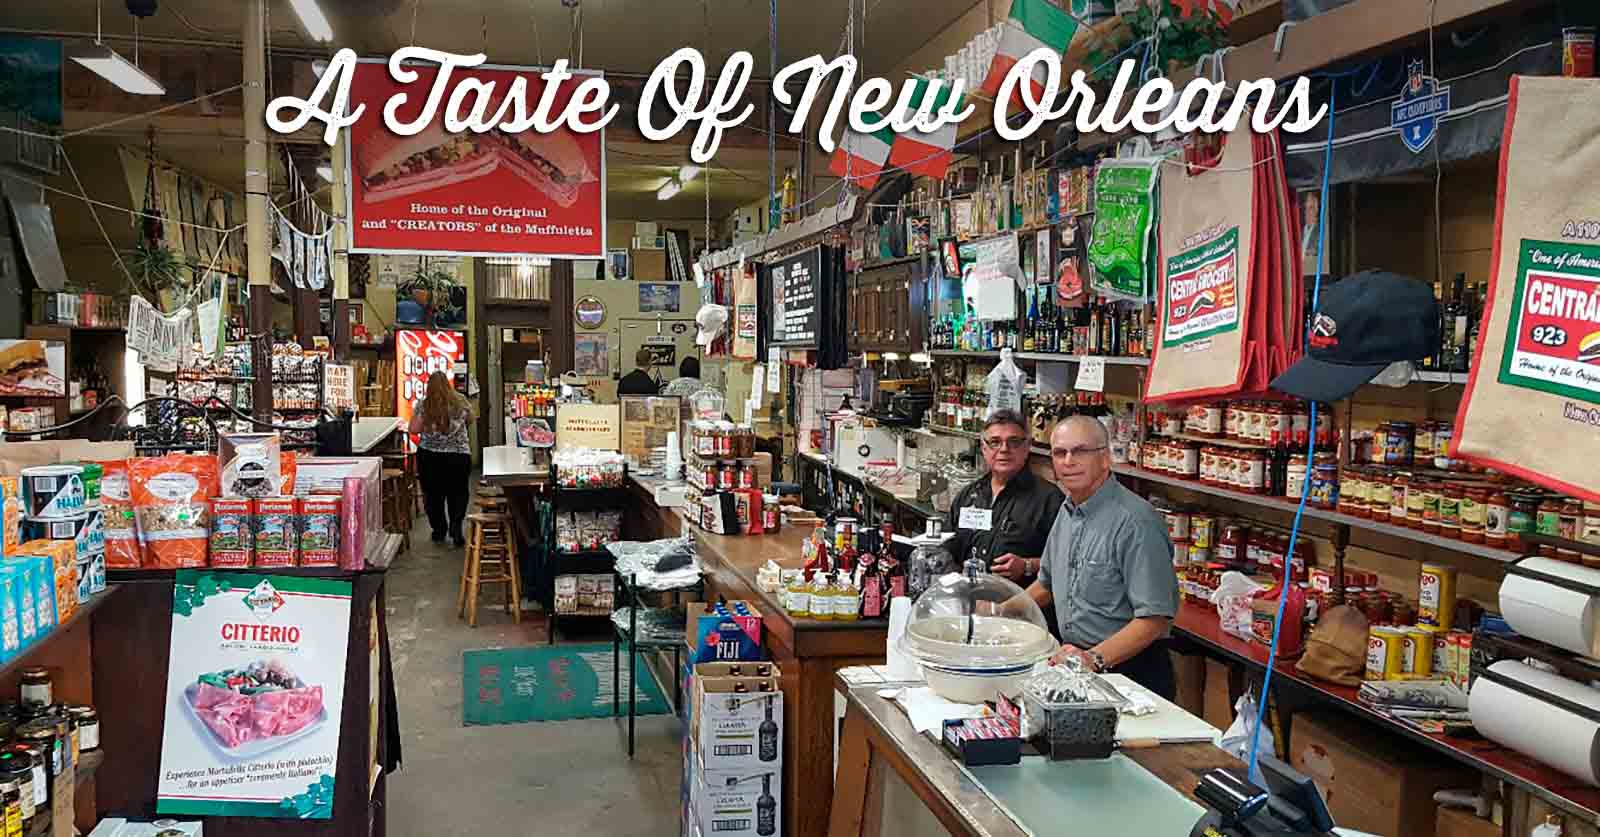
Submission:
[[[267,162],[267,0],[246,0],[245,14],[245,256],[250,277],[250,334],[267,334],[269,357],[253,352],[256,418],[272,416],[272,206]],[[264,365],[266,363],[266,365]]]

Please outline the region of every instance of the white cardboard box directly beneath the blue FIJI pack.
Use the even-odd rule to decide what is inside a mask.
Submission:
[[[784,693],[778,667],[757,666],[771,674],[731,674],[726,664],[694,666],[690,738],[706,770],[779,770],[784,763]]]

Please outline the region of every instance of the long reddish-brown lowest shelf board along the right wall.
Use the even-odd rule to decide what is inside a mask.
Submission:
[[[1469,544],[1470,546],[1470,544]],[[1237,663],[1243,663],[1253,671],[1266,671],[1267,647],[1259,642],[1246,642],[1222,632],[1216,610],[1208,605],[1184,603],[1173,619],[1173,635],[1187,639],[1208,651],[1219,653]],[[1562,810],[1576,813],[1589,823],[1600,823],[1600,789],[1581,784],[1578,779],[1557,771],[1517,751],[1502,747],[1488,739],[1450,738],[1427,733],[1403,720],[1397,720],[1357,698],[1355,687],[1326,683],[1307,674],[1294,671],[1293,659],[1278,659],[1272,666],[1272,683],[1286,685],[1296,693],[1312,698],[1315,703],[1341,709],[1362,720],[1381,727],[1387,733],[1398,735],[1413,743],[1422,744],[1451,760],[1482,770],[1491,776],[1509,781]]]

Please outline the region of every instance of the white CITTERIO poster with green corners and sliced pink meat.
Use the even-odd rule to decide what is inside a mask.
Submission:
[[[157,813],[331,818],[349,632],[347,581],[179,570]]]

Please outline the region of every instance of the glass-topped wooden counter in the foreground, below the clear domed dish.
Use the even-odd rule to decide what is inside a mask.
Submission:
[[[1187,834],[1202,807],[1202,773],[1243,765],[1210,743],[1128,749],[1104,760],[965,768],[906,714],[878,695],[880,683],[843,677],[845,727],[830,837],[955,834],[1030,837],[1061,834]],[[920,800],[920,803],[918,803]],[[1130,807],[1139,800],[1138,807]],[[1192,815],[1192,818],[1190,818]],[[1157,826],[1165,821],[1166,826]]]

